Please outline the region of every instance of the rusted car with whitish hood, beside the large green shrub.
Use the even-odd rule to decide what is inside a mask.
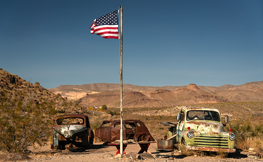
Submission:
[[[53,144],[51,148],[90,148],[94,133],[90,129],[89,117],[82,114],[59,115],[54,119]]]

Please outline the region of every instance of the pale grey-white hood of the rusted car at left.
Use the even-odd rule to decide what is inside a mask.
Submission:
[[[54,127],[54,130],[65,138],[71,138],[75,133],[86,130],[86,126],[82,125],[59,125]]]

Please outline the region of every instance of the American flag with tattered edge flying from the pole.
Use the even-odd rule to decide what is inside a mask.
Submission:
[[[96,18],[90,29],[91,34],[95,33],[103,38],[119,39],[118,10]]]

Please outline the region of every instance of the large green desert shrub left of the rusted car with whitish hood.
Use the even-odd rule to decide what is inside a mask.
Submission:
[[[8,91],[2,91],[0,96],[1,151],[23,153],[28,146],[51,135],[52,119],[56,113],[53,106],[47,102],[33,105],[32,101],[19,100],[21,96],[28,97],[26,93],[12,95]]]

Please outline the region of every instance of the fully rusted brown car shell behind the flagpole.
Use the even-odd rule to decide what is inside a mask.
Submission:
[[[134,141],[154,141],[149,130],[141,120],[122,120],[123,140],[133,139]],[[105,120],[95,130],[95,138],[104,142],[120,140],[120,120]]]

